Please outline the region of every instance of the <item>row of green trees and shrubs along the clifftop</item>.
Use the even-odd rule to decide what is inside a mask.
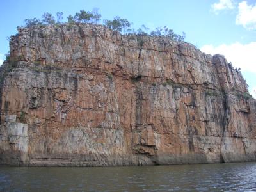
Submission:
[[[183,32],[182,35],[176,34],[172,29],[169,29],[167,26],[157,27],[156,29],[149,31],[149,28],[145,25],[142,25],[138,29],[131,28],[132,22],[129,22],[127,19],[120,18],[118,16],[114,17],[113,20],[103,19],[101,22],[101,15],[98,13],[99,9],[95,8],[92,12],[80,10],[75,15],[68,15],[67,22],[63,22],[63,12],[57,12],[56,18],[51,13],[44,13],[42,19],[25,19],[25,26],[29,28],[31,26],[44,26],[48,24],[60,25],[60,24],[74,24],[79,23],[90,23],[90,24],[102,24],[106,28],[109,28],[113,31],[118,31],[123,35],[136,35],[136,36],[156,36],[164,37],[170,40],[175,40],[178,42],[183,42],[186,34]],[[140,39],[140,42],[143,42]]]

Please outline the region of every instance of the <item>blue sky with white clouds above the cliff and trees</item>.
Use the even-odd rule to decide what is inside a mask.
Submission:
[[[0,64],[9,51],[8,36],[17,33],[24,19],[41,18],[44,12],[99,8],[102,19],[120,16],[133,28],[168,26],[186,33],[186,42],[209,54],[223,54],[241,72],[256,98],[256,1],[255,0],[0,0]]]

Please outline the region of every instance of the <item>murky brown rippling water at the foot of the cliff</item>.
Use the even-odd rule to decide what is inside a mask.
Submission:
[[[256,163],[0,167],[0,191],[256,191]]]

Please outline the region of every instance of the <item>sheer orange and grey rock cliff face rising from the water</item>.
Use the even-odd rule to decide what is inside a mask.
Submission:
[[[10,52],[1,165],[256,161],[256,102],[223,56],[88,24],[20,28]]]

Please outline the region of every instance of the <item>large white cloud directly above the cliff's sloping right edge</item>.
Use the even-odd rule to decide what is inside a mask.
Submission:
[[[256,42],[250,44],[222,44],[217,47],[213,45],[204,45],[200,49],[207,54],[223,54],[228,62],[232,62],[234,67],[241,68],[242,71],[256,73]]]

